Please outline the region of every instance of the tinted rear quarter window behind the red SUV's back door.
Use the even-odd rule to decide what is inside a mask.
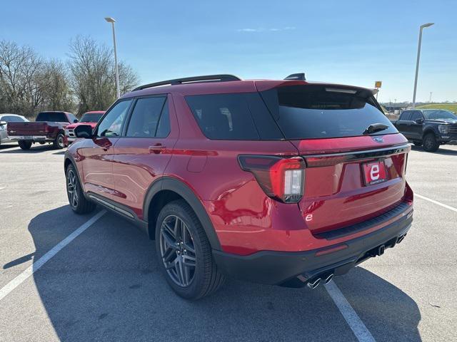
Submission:
[[[258,93],[186,96],[206,138],[220,140],[279,140],[281,131]]]

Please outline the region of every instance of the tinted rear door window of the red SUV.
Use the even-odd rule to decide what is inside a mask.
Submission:
[[[131,113],[127,137],[154,138],[166,98],[139,98]]]

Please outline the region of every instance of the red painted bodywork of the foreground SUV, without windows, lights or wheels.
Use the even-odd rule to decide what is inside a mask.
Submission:
[[[246,256],[261,251],[324,249],[316,254],[321,255],[330,247],[338,251],[350,240],[368,236],[401,217],[410,217],[413,201],[405,180],[409,147],[383,157],[386,180],[368,186],[364,184],[362,165],[377,162],[378,157],[353,161],[338,154],[405,145],[403,135],[382,135],[382,142],[370,135],[282,141],[211,140],[202,133],[184,98],[311,84],[231,81],[137,90],[121,99],[166,94],[171,127],[166,138],[84,139],[69,147],[68,157],[76,163],[86,193],[121,204],[139,220],[146,220],[148,208],[144,204],[151,185],[163,177],[182,182],[206,210],[221,252]],[[239,155],[303,156],[303,198],[297,204],[268,197],[253,173],[241,169]],[[321,237],[334,229],[379,217],[401,203],[407,203],[410,209],[381,224],[336,239]],[[149,222],[149,227],[154,225]]]

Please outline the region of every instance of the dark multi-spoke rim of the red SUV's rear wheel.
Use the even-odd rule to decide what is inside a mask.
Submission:
[[[167,216],[161,224],[160,253],[170,279],[178,286],[189,286],[196,270],[194,239],[176,215]]]

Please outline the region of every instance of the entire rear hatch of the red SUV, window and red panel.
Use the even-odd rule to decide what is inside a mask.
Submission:
[[[306,161],[298,206],[313,234],[366,221],[403,202],[411,147],[371,90],[303,83],[260,93]]]

